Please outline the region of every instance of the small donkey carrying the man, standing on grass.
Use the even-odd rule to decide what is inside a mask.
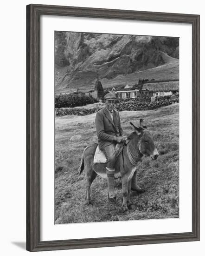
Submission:
[[[156,160],[159,156],[158,150],[153,140],[153,136],[148,131],[144,121],[140,119],[140,126],[135,126],[132,122],[130,125],[134,128],[133,133],[128,135],[127,143],[122,145],[116,151],[115,178],[122,178],[122,209],[127,211],[133,209],[130,201],[131,179],[136,171],[136,166],[143,155],[150,156],[152,160]],[[85,200],[89,205],[90,186],[97,175],[106,178],[106,162],[93,164],[94,155],[97,144],[88,146],[84,149],[81,158],[79,174],[84,170],[86,178]]]

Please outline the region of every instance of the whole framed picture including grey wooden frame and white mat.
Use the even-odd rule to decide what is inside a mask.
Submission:
[[[26,21],[26,249],[199,241],[199,15]]]

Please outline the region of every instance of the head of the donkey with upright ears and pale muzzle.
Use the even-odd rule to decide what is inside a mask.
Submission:
[[[153,136],[148,131],[144,121],[140,119],[140,126],[135,126],[132,122],[130,122],[130,124],[138,135],[138,148],[141,154],[150,156],[152,160],[156,160],[159,153],[154,143]]]

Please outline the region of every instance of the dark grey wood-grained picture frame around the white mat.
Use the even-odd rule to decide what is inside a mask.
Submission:
[[[40,16],[192,24],[192,232],[40,241]],[[31,4],[26,7],[26,249],[79,249],[199,241],[199,15]]]

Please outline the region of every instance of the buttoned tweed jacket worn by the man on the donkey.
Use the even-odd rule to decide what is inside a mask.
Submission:
[[[122,136],[120,115],[117,110],[113,110],[113,120],[106,107],[96,114],[96,132],[98,146],[102,150],[104,147],[115,143],[115,136]]]

